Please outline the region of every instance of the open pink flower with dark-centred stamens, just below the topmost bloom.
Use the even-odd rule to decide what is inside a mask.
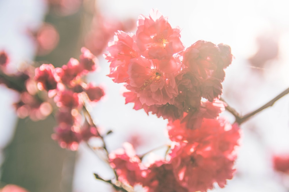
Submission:
[[[131,59],[128,68],[129,84],[126,86],[138,94],[140,102],[148,106],[153,104],[173,103],[177,96],[177,85],[169,67],[159,60],[147,60],[139,57]]]

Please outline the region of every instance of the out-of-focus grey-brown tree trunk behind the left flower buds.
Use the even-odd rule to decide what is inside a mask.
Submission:
[[[45,21],[55,26],[60,41],[49,55],[36,57],[35,61],[59,67],[71,57],[78,58],[82,15],[83,10],[65,17],[48,14]],[[18,120],[14,138],[5,149],[1,182],[25,187],[30,192],[72,191],[76,153],[61,149],[51,139],[55,125],[51,116],[38,122]]]

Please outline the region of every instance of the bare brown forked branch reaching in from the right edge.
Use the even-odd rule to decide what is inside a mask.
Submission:
[[[234,117],[236,118],[235,123],[238,123],[239,125],[244,123],[245,121],[247,121],[250,117],[252,117],[253,115],[259,113],[260,111],[273,106],[273,104],[280,99],[281,97],[285,96],[286,94],[289,93],[289,88],[287,88],[286,90],[284,90],[282,93],[280,93],[279,95],[277,95],[275,98],[273,98],[272,100],[270,100],[269,102],[267,102],[266,104],[264,104],[262,107],[256,109],[255,111],[252,111],[246,115],[240,115],[234,108],[230,107],[228,104],[225,107],[225,109],[227,111],[229,111],[232,115],[234,115]],[[223,98],[221,98],[220,100],[224,101]],[[225,101],[224,101],[225,102]],[[227,102],[226,102],[227,103]]]

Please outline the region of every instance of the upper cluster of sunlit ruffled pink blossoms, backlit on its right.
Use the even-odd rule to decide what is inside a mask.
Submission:
[[[104,56],[110,62],[108,76],[126,83],[126,103],[198,128],[202,118],[216,118],[224,110],[218,98],[232,54],[228,45],[202,40],[185,49],[180,31],[152,10],[140,15],[136,34],[118,31]]]

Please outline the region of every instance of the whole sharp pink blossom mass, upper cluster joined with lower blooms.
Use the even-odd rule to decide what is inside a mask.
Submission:
[[[184,47],[180,29],[152,10],[140,15],[136,34],[118,31],[104,57],[108,75],[125,83],[126,103],[168,119],[170,152],[147,166],[129,143],[110,154],[111,167],[126,185],[146,191],[207,191],[224,187],[233,177],[234,153],[240,138],[237,124],[219,118],[225,104],[224,69],[231,64],[228,45],[197,41]]]

